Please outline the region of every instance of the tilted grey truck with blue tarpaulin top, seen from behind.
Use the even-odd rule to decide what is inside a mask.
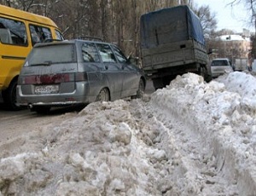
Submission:
[[[140,37],[143,71],[155,89],[186,72],[212,79],[201,22],[188,6],[143,14]]]

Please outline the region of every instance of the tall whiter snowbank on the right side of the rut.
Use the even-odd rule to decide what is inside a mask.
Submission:
[[[167,90],[155,92],[152,99],[155,107],[162,109],[158,109],[160,112],[172,111],[183,124],[199,133],[202,147],[207,148],[207,154],[200,154],[203,157],[199,161],[206,163],[207,176],[213,176],[207,181],[215,184],[214,188],[225,179],[226,190],[220,193],[253,195],[255,78],[245,72],[233,72],[218,80],[204,84],[195,74],[186,74],[177,77]]]

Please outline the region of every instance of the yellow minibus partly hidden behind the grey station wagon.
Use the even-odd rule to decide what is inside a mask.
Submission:
[[[0,91],[5,106],[19,109],[16,105],[17,79],[33,45],[63,39],[53,20],[0,5]]]

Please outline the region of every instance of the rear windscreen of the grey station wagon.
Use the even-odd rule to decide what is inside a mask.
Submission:
[[[28,57],[27,66],[39,66],[45,63],[67,63],[77,61],[74,44],[48,45],[33,48]]]

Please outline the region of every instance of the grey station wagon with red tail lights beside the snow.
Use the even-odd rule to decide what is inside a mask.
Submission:
[[[17,85],[17,104],[32,111],[139,98],[143,71],[114,44],[75,39],[38,43],[27,56]]]

